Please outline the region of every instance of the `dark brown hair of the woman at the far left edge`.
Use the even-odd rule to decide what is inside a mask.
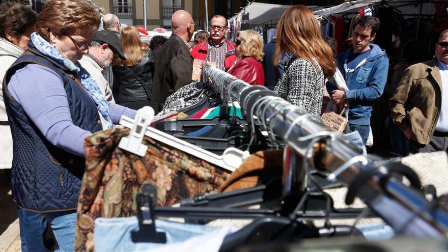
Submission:
[[[0,5],[0,37],[6,39],[5,31],[10,30],[12,36],[19,37],[34,26],[37,13],[31,8],[18,3],[3,3]]]

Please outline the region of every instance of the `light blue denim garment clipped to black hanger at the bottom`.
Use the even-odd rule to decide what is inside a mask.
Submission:
[[[178,223],[172,221],[165,221],[157,219],[155,222],[156,230],[158,232],[166,233],[166,244],[161,243],[134,243],[131,238],[131,231],[138,230],[138,221],[137,218],[128,217],[128,218],[97,218],[95,220],[95,251],[103,252],[103,251],[153,251],[163,249],[165,251],[165,246],[173,245],[175,248],[171,251],[184,251],[185,247],[179,245],[179,242],[188,242],[189,239],[196,239],[202,237],[202,235],[214,234],[215,232],[220,231],[220,229],[214,227],[208,227],[203,225],[194,225],[188,223]],[[225,235],[221,232],[221,240],[218,241],[219,244],[215,243],[216,251],[219,250],[219,247],[222,243],[222,239]],[[222,235],[223,234],[223,235]],[[217,236],[213,236],[210,239],[202,239],[202,242],[199,241],[197,248],[193,249],[195,252],[200,251],[202,243],[209,242],[214,238],[219,238]],[[174,244],[176,243],[176,244]],[[177,248],[176,248],[177,246]],[[191,251],[193,251],[191,250]],[[166,251],[170,251],[166,249]],[[204,251],[213,251],[210,247]]]

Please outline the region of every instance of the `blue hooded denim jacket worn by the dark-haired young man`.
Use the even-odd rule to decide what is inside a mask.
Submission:
[[[387,81],[389,59],[378,45],[369,44],[372,50],[366,60],[356,66],[355,71],[346,79],[347,100],[349,101],[349,124],[370,125],[373,101],[380,98]],[[339,70],[345,76],[347,59],[353,48],[338,56]],[[330,93],[331,94],[331,93]]]

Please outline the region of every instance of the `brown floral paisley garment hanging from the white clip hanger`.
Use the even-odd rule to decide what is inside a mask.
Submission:
[[[76,251],[93,251],[97,217],[136,215],[136,195],[143,183],[158,189],[160,206],[216,190],[229,173],[220,167],[145,136],[145,157],[118,147],[130,129],[117,126],[85,140],[86,172],[82,178],[76,222]]]

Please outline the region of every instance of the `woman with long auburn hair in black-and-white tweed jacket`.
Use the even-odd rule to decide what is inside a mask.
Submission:
[[[293,56],[274,91],[308,113],[320,116],[325,78],[334,74],[336,66],[319,22],[303,5],[285,11],[277,23],[274,59],[282,59],[286,52]]]

